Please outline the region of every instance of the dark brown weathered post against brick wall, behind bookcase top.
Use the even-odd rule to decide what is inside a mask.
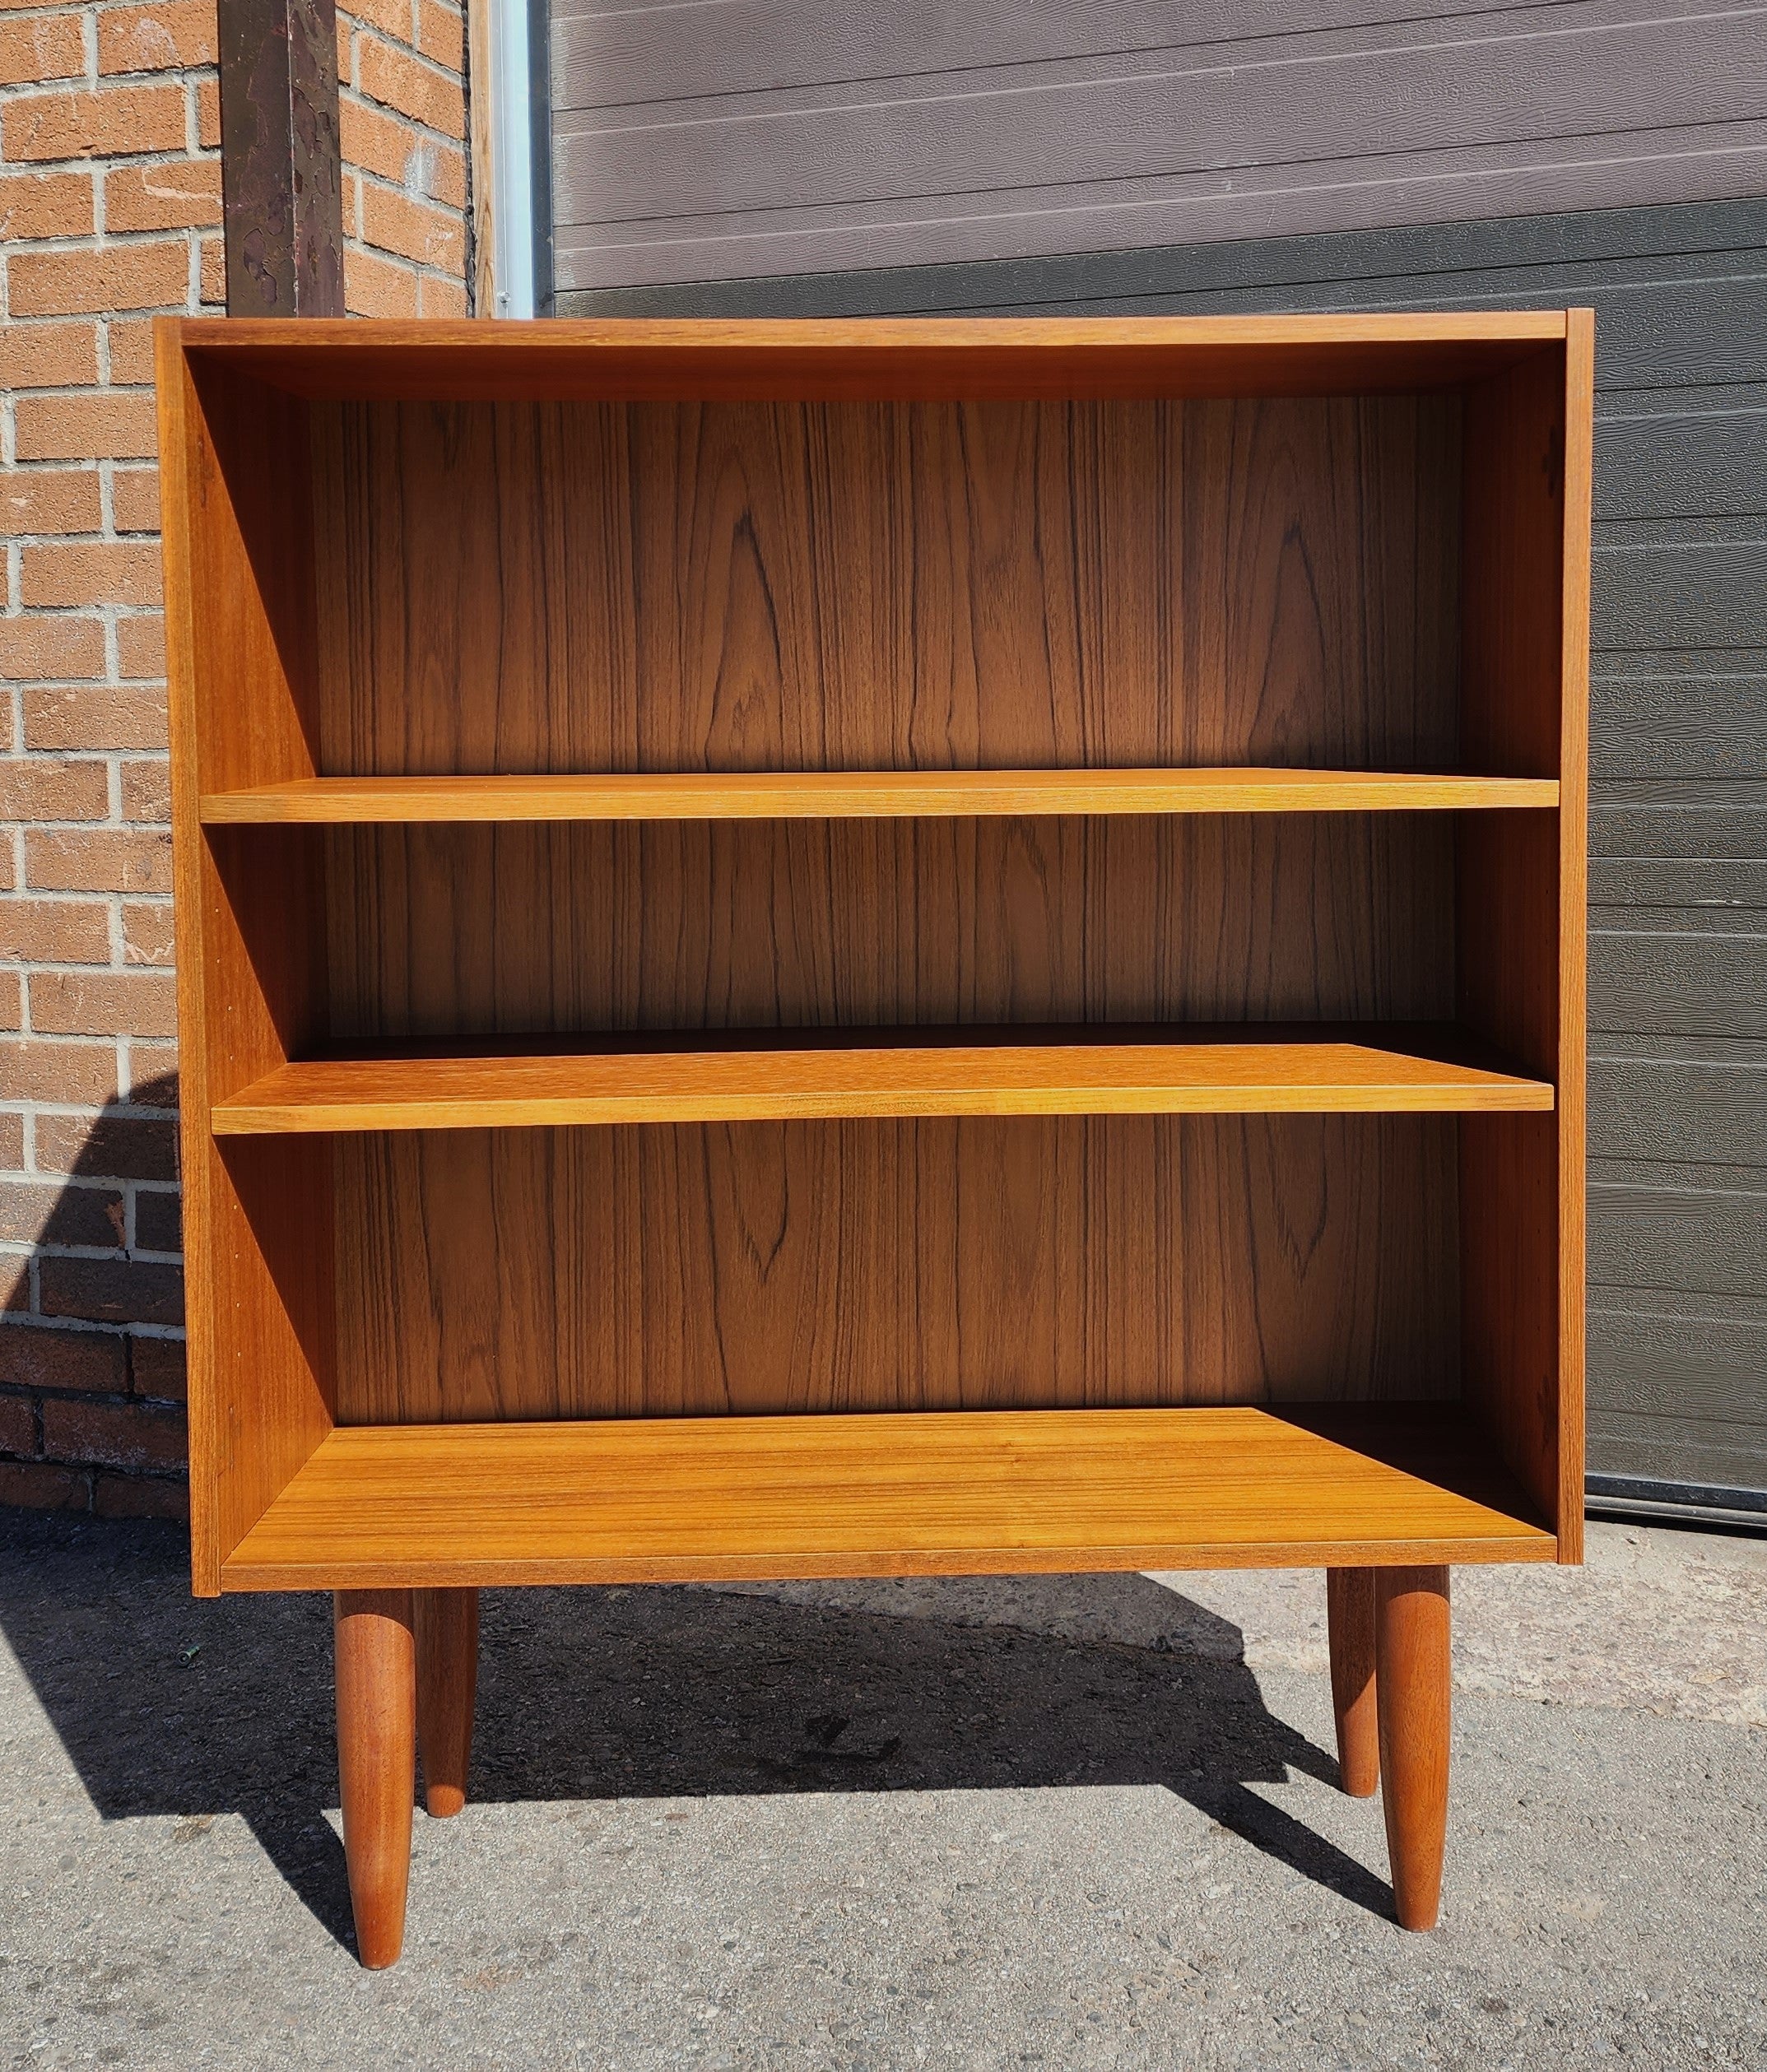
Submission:
[[[334,0],[220,0],[230,317],[344,315]]]

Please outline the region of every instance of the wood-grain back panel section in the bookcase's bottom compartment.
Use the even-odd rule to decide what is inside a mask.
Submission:
[[[338,1419],[1452,1397],[1450,1117],[336,1142]]]

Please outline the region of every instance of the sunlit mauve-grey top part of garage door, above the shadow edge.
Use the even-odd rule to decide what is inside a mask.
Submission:
[[[845,21],[891,12],[829,0],[795,41],[773,25],[748,89],[686,97],[700,46],[729,48],[704,8],[615,17],[607,70],[609,15],[559,15],[557,286],[1713,199],[1767,178],[1759,8],[1568,0],[1485,10],[1469,33],[1448,6],[1338,29],[1291,6],[1251,37],[1141,50],[1100,15],[1067,56],[1042,56],[1063,46],[1030,27],[1040,8],[967,10],[967,35],[920,52]]]

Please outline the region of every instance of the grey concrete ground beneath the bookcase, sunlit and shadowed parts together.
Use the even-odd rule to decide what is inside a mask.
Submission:
[[[182,1560],[0,1515],[0,2064],[1767,2066],[1767,1539],[1456,1573],[1425,1937],[1317,1575],[487,1593],[381,1975],[327,1606]]]

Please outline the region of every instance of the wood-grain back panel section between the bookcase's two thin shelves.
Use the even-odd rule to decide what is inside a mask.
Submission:
[[[311,839],[340,1040],[1454,1011],[1446,814]]]

